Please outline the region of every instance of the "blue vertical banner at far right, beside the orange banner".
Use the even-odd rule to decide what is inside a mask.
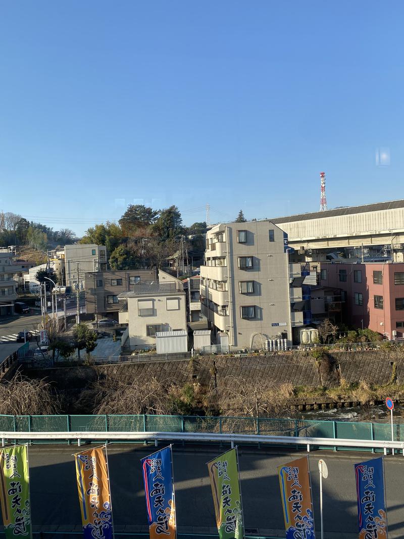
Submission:
[[[359,539],[387,539],[383,457],[355,465]]]

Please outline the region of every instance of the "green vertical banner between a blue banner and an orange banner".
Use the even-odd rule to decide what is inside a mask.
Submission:
[[[243,539],[244,527],[236,448],[207,463],[220,539]]]

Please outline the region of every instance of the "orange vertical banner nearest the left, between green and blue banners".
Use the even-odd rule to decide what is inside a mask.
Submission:
[[[114,535],[112,522],[111,496],[106,446],[95,447],[87,451],[75,453],[77,487],[83,534],[88,539],[112,539]]]

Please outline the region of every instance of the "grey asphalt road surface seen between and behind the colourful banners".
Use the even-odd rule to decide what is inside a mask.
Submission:
[[[160,446],[162,447],[162,446]],[[217,535],[206,462],[227,447],[176,444],[173,469],[179,533]],[[32,521],[43,530],[80,529],[80,510],[72,453],[77,446],[34,445],[29,448]],[[140,459],[154,445],[108,446],[110,484],[116,531],[146,532],[146,513]],[[283,513],[276,467],[307,453],[239,448],[242,502],[247,535],[284,537]],[[318,460],[323,458],[329,478],[323,481],[325,539],[353,539],[357,532],[357,503],[353,464],[371,453],[318,451],[310,454],[314,514],[319,536]],[[404,537],[402,455],[388,455],[386,491],[389,537]],[[78,528],[75,528],[75,527]]]

